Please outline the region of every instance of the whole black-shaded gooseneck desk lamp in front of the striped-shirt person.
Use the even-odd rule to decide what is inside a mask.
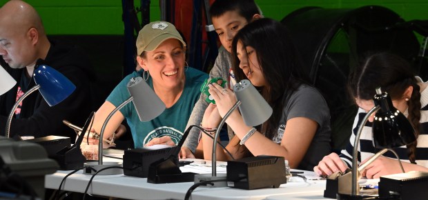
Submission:
[[[358,179],[361,177],[361,172],[370,163],[380,157],[380,155],[387,152],[387,150],[393,152],[391,148],[405,146],[416,141],[414,128],[411,126],[405,115],[393,107],[391,98],[387,92],[382,92],[380,88],[376,88],[376,94],[373,97],[373,101],[375,107],[366,114],[360,123],[360,127],[356,134],[356,140],[353,144],[352,171],[351,173],[344,174],[342,177],[338,177],[338,199],[367,198],[367,196],[360,195]],[[376,112],[372,127],[373,144],[376,148],[383,148],[383,150],[374,154],[371,159],[358,168],[358,146],[361,132],[373,112]],[[393,153],[396,154],[395,152]],[[400,160],[398,160],[398,162],[400,162]],[[401,169],[404,172],[402,166]],[[349,188],[349,186],[351,186],[351,188]]]

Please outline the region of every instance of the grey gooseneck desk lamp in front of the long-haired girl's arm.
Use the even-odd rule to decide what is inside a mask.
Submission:
[[[240,112],[244,122],[247,126],[258,126],[272,114],[272,108],[269,104],[263,99],[262,95],[254,88],[253,84],[249,80],[242,80],[240,83],[235,84],[233,86],[233,92],[235,92],[235,96],[237,102],[232,106],[231,110],[229,110],[223,117],[222,121],[220,121],[219,126],[214,135],[213,139],[213,155],[212,155],[212,172],[210,174],[196,174],[195,182],[200,181],[212,181],[212,180],[220,180],[226,179],[226,175],[222,174],[222,176],[217,177],[217,157],[216,157],[216,149],[217,149],[217,139],[220,135],[220,130],[228,116],[235,110],[238,106],[240,108]],[[215,182],[213,187],[225,187],[226,181],[224,182]]]

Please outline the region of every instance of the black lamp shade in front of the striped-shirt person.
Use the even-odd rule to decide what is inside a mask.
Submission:
[[[415,130],[402,112],[393,107],[387,92],[373,97],[380,106],[373,119],[373,144],[376,148],[397,148],[416,141]]]

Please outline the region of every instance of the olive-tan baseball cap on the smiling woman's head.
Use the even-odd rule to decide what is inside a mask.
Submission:
[[[153,51],[166,39],[178,39],[186,47],[182,36],[172,23],[168,21],[153,21],[148,23],[138,32],[137,54],[141,55],[144,51]]]

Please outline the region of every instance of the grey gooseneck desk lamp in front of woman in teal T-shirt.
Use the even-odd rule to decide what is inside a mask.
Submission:
[[[98,146],[98,161],[97,162],[88,162],[85,163],[84,166],[86,167],[92,167],[95,170],[101,170],[102,168],[106,168],[108,166],[121,166],[121,163],[116,162],[106,162],[103,163],[103,142],[102,138],[104,137],[104,130],[106,129],[107,123],[110,120],[111,117],[113,117],[113,114],[117,112],[117,110],[120,110],[126,104],[128,104],[130,101],[133,101],[135,110],[137,110],[137,114],[140,121],[150,121],[152,119],[155,119],[159,114],[164,112],[166,106],[164,102],[157,97],[157,94],[155,91],[148,86],[146,81],[143,80],[142,77],[135,77],[130,79],[127,86],[128,92],[130,94],[130,97],[126,99],[123,103],[121,103],[115,110],[110,112],[108,114],[106,121],[104,121],[103,126],[101,127],[101,132],[99,134],[99,146]],[[85,174],[94,174],[95,172],[93,170],[84,170]],[[104,172],[100,172],[99,174],[102,175],[113,175],[113,174],[122,174],[123,170],[119,169],[111,169],[111,170],[105,170]]]

